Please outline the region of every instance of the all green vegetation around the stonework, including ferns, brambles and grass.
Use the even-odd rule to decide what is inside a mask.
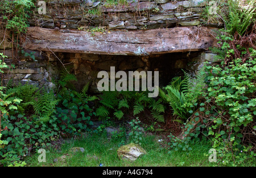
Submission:
[[[218,8],[213,17],[222,20],[225,29],[217,32],[220,47],[210,50],[223,62],[214,66],[205,63],[195,76],[184,71],[183,77],[175,77],[159,89],[159,98],[149,98],[147,91],[90,96],[90,82],[79,92],[73,86],[76,76],[66,71],[61,71],[54,90],[30,84],[3,86],[1,80],[0,165],[255,166],[254,4],[255,0],[243,4],[219,1],[217,7],[228,5],[228,10]],[[16,44],[18,36],[26,32],[32,7],[30,0],[1,2],[1,28],[15,34]],[[215,23],[209,14],[207,7],[203,15],[208,23]],[[102,28],[88,31],[92,35],[105,32]],[[6,57],[0,53],[1,73],[9,68]],[[173,117],[165,118],[170,108]],[[143,120],[145,115],[151,123]],[[100,121],[100,126],[93,127],[93,121]],[[161,127],[164,122],[173,123],[176,130]],[[107,127],[118,127],[118,131],[109,136]],[[63,141],[70,138],[70,143]],[[131,142],[146,148],[147,154],[136,162],[119,160],[117,148]],[[86,151],[72,154],[69,150],[74,146]],[[40,148],[49,150],[47,163],[38,163],[35,152]],[[217,153],[213,163],[208,160],[210,148]],[[64,163],[55,162],[61,155],[71,156]]]

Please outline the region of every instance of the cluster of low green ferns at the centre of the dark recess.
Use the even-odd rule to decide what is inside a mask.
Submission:
[[[162,100],[156,101],[154,98],[147,96],[147,92],[104,92],[100,96],[101,105],[97,108],[96,113],[103,118],[113,112],[116,118],[121,119],[125,115],[123,112],[129,113],[130,106],[132,106],[133,115],[142,113],[147,107],[156,121],[164,122]]]

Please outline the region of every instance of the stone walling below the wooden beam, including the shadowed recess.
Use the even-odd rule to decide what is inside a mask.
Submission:
[[[3,51],[0,51],[3,52]],[[26,51],[30,53],[31,51]],[[172,77],[183,75],[181,69],[195,73],[204,61],[217,64],[220,61],[214,59],[214,54],[205,52],[167,53],[151,56],[119,56],[119,55],[91,55],[80,53],[40,53],[33,51],[35,60],[29,56],[20,55],[19,61],[14,63],[12,51],[6,50],[5,63],[11,67],[5,71],[3,82],[11,82],[12,85],[32,84],[55,88],[56,81],[60,79],[60,71],[64,67],[76,75],[77,81],[73,84],[80,91],[82,87],[91,81],[90,92],[98,93],[97,78],[100,71],[107,71],[110,76],[110,67],[115,67],[115,72],[125,71],[159,71],[159,85],[167,85]],[[61,61],[61,62],[60,62]],[[63,65],[64,64],[64,65]],[[117,79],[118,80],[118,79]]]

